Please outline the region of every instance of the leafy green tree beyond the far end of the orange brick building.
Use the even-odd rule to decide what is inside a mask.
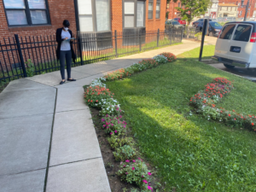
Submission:
[[[181,0],[181,4],[184,5],[184,9],[176,9],[180,11],[183,20],[187,20],[190,24],[195,16],[204,15],[206,13],[207,8],[211,4],[211,0]]]

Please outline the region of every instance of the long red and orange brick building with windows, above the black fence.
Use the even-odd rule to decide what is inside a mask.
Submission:
[[[0,34],[55,34],[65,19],[73,32],[164,30],[164,10],[166,0],[0,0]]]

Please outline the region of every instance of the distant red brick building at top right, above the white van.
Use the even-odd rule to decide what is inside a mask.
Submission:
[[[247,0],[218,0],[218,3],[232,3],[236,4],[237,13],[236,17],[243,18],[245,16]],[[256,19],[256,0],[250,0],[249,9],[247,12],[247,18],[255,18]]]

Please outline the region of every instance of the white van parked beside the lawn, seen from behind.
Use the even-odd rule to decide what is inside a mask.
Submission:
[[[213,60],[225,67],[256,68],[256,22],[229,22],[218,34]]]

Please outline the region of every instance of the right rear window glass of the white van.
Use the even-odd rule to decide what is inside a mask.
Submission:
[[[233,40],[248,42],[252,31],[252,26],[238,25]]]

